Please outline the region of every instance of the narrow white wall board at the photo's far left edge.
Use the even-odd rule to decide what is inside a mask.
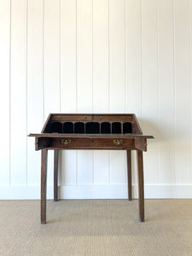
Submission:
[[[1,70],[1,137],[0,184],[9,184],[9,49],[10,49],[10,3],[0,1],[0,70]]]

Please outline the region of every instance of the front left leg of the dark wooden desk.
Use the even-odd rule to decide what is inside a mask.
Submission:
[[[41,150],[41,224],[46,224],[47,149]]]

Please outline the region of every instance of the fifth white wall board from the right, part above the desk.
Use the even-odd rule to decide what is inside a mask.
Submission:
[[[109,110],[125,111],[125,0],[109,1]]]

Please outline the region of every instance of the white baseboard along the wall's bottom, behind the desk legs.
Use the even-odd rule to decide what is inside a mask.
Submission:
[[[132,196],[137,198],[137,185],[132,186]],[[145,185],[146,199],[192,198],[192,184],[188,185]],[[60,186],[61,199],[127,199],[127,185],[82,185]],[[0,186],[0,200],[39,200],[40,187]],[[53,186],[47,187],[47,199],[53,199]]]

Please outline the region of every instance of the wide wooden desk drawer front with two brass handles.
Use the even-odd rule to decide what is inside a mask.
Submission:
[[[73,138],[61,137],[52,138],[50,147],[58,148],[131,148],[132,138]]]

